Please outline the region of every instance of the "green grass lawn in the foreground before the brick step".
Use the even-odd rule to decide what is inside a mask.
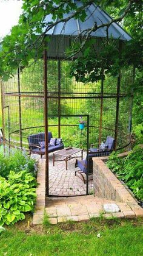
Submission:
[[[142,224],[91,219],[27,229],[27,221],[19,222],[1,233],[0,255],[143,255]]]

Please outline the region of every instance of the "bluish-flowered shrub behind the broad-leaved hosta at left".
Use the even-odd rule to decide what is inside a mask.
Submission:
[[[21,151],[6,156],[0,154],[0,176],[7,178],[10,171],[19,172],[22,170],[31,172],[35,176],[35,160]]]

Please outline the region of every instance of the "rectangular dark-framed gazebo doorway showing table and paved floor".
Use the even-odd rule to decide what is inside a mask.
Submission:
[[[58,138],[58,132],[52,133],[54,134],[53,140],[56,140],[56,147],[59,147],[60,150],[48,155],[49,196],[87,194],[88,121],[85,115],[84,121],[86,124],[81,130],[78,124],[79,116],[61,115],[61,138]],[[51,128],[49,127],[49,129]],[[84,164],[84,169],[78,171],[78,165],[82,164]],[[93,185],[93,180],[91,185]]]

